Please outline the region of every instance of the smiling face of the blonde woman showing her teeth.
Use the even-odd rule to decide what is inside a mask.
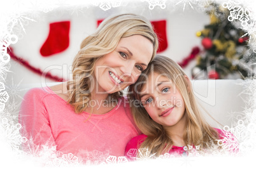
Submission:
[[[146,37],[134,35],[120,39],[114,51],[96,61],[97,92],[115,93],[134,84],[152,55],[153,44]]]

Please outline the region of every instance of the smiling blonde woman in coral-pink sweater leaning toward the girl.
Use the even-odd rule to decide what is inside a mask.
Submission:
[[[152,25],[142,16],[107,18],[83,40],[73,61],[73,80],[24,96],[22,134],[35,146],[57,145],[60,152],[83,160],[96,152],[103,159],[124,155],[139,131],[121,90],[136,82],[157,48]]]

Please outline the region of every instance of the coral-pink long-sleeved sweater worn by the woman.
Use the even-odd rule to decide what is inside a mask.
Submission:
[[[36,145],[57,145],[63,154],[72,153],[83,159],[92,151],[105,158],[124,156],[127,142],[139,134],[127,98],[120,98],[110,112],[89,117],[87,112],[76,114],[71,105],[45,87],[25,94],[19,122],[22,136],[32,137]]]

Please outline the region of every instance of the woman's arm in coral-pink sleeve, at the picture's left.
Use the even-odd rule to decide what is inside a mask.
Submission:
[[[35,145],[55,145],[48,112],[43,103],[47,92],[41,88],[30,89],[24,96],[18,121],[22,125],[20,133],[27,138],[23,147]],[[24,148],[26,149],[26,148]]]

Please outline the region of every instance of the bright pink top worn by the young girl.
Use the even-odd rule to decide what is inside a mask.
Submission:
[[[214,128],[217,133],[219,134],[219,139],[222,141],[222,147],[227,149],[228,152],[237,153],[239,143],[234,137],[232,133],[227,131],[223,131],[221,129]],[[146,134],[141,134],[139,136],[135,136],[132,138],[125,148],[125,157],[129,160],[136,160],[138,153],[138,148],[140,147],[141,143],[145,141],[147,138]],[[200,147],[190,146],[192,148],[185,148],[184,147],[177,147],[173,146],[171,150],[169,150],[168,154],[173,156],[181,156],[187,155],[187,150],[193,150],[194,154],[196,154],[197,150],[200,150]]]

